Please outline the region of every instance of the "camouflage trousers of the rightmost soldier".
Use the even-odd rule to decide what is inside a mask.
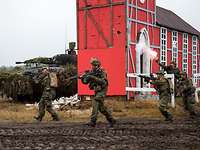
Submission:
[[[183,104],[185,110],[189,111],[191,115],[195,113],[194,104],[195,104],[195,95],[183,96]]]

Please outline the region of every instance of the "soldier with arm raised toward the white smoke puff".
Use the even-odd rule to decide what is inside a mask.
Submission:
[[[169,66],[165,66],[162,63],[159,62],[157,59],[156,62],[166,71],[168,74],[174,74],[174,91],[175,95],[177,95],[177,86],[178,86],[178,80],[180,78],[180,70],[176,67],[176,62],[171,61]]]

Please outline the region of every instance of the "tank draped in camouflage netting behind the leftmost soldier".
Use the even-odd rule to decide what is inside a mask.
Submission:
[[[38,57],[26,60],[24,63],[31,64],[56,64],[53,68],[58,78],[58,88],[56,89],[57,98],[69,97],[77,93],[77,80],[66,80],[77,74],[76,56],[56,55],[53,58]],[[17,67],[16,67],[17,68]],[[39,73],[38,68],[18,67],[12,70],[0,71],[0,93],[1,96],[12,98],[13,101],[39,101],[42,95],[42,86],[35,82],[36,73]],[[28,72],[27,72],[28,70]],[[51,68],[50,68],[51,70]],[[31,72],[32,71],[32,72]]]

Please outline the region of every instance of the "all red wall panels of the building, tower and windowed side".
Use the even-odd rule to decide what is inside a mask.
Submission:
[[[77,19],[78,19],[78,71],[83,72],[84,70],[90,69],[90,58],[97,57],[102,62],[102,67],[107,71],[109,80],[109,91],[108,95],[125,95],[126,87],[126,6],[125,0],[113,0],[116,6],[108,7],[108,0],[87,0],[87,5],[84,0],[77,0]],[[133,1],[135,3],[135,1]],[[120,3],[120,4],[119,4]],[[147,8],[147,1],[145,4],[138,4],[142,8]],[[99,7],[99,6],[104,7]],[[84,7],[96,7],[89,9],[88,12],[84,11]],[[155,0],[148,0],[149,10],[155,11]],[[111,16],[113,12],[113,16]],[[146,23],[152,23],[154,20],[150,18],[150,13],[144,12],[143,10],[133,10],[133,19],[143,21]],[[148,21],[147,21],[148,18]],[[158,52],[160,58],[160,27],[152,27],[141,24],[132,23],[131,39],[132,42],[137,42],[137,33],[142,29],[146,28],[149,32],[150,44],[155,46],[153,50]],[[112,34],[112,35],[111,35]],[[168,29],[167,32],[167,47],[170,49],[167,53],[167,63],[171,61],[171,49],[172,49],[172,32]],[[189,52],[191,52],[191,35],[189,37]],[[107,40],[107,43],[106,43]],[[182,32],[178,32],[178,68],[182,71]],[[111,46],[108,46],[111,43]],[[200,42],[199,42],[200,45]],[[135,45],[131,46],[134,64],[136,63],[136,52]],[[200,54],[200,52],[198,52]],[[200,56],[198,55],[198,63],[200,63]],[[188,71],[191,75],[192,64],[191,64],[191,53],[188,54]],[[131,62],[129,62],[131,64]],[[198,64],[198,70],[200,64]],[[130,72],[135,72],[135,68],[130,67]],[[157,72],[159,66],[155,61],[152,62],[152,72]],[[133,85],[135,80],[133,79]],[[92,94],[92,91],[87,86],[83,85],[80,81],[78,84],[78,94],[88,95]]]

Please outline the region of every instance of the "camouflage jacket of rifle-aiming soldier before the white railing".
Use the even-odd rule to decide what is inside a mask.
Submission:
[[[170,95],[170,85],[167,79],[154,80],[151,82],[159,95]]]

